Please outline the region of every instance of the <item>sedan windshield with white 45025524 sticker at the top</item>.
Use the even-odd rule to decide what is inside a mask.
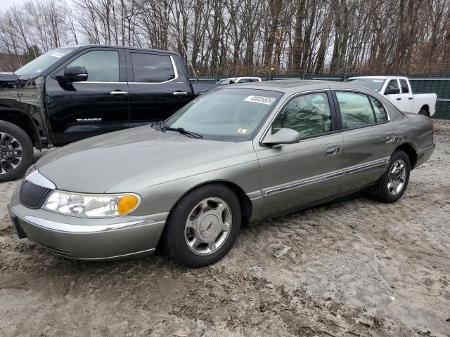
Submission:
[[[169,117],[161,131],[183,128],[209,140],[250,140],[281,95],[277,91],[257,89],[215,89]]]

